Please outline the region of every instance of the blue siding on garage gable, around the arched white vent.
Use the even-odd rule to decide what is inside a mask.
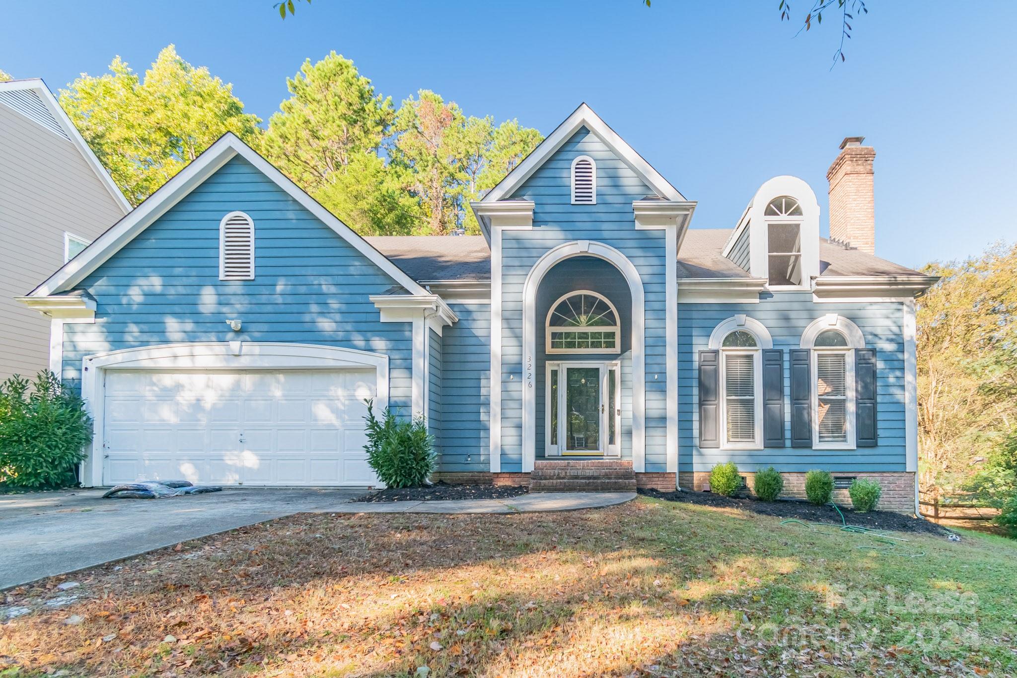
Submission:
[[[254,220],[253,281],[219,280],[219,223]],[[394,281],[246,161],[235,158],[89,274],[95,324],[64,328],[63,376],[105,351],[183,342],[321,344],[390,357],[390,399],[409,412],[410,323],[382,323],[367,298]],[[234,332],[226,318],[240,318]]]

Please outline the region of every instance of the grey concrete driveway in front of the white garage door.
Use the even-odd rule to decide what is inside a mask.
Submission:
[[[101,499],[103,492],[0,495],[0,590],[292,513],[339,509],[364,490],[231,488],[169,499]]]

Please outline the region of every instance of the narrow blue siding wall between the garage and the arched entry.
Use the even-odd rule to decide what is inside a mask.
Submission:
[[[441,336],[441,471],[491,469],[491,307],[451,304]]]

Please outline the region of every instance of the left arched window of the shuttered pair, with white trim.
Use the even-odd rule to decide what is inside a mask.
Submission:
[[[773,338],[762,322],[736,315],[718,324],[710,348],[719,350],[721,447],[763,447],[763,349]]]

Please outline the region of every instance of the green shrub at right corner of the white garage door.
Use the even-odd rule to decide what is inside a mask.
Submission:
[[[421,416],[400,419],[387,409],[374,417],[367,400],[367,465],[387,487],[419,487],[436,466],[434,437]]]

